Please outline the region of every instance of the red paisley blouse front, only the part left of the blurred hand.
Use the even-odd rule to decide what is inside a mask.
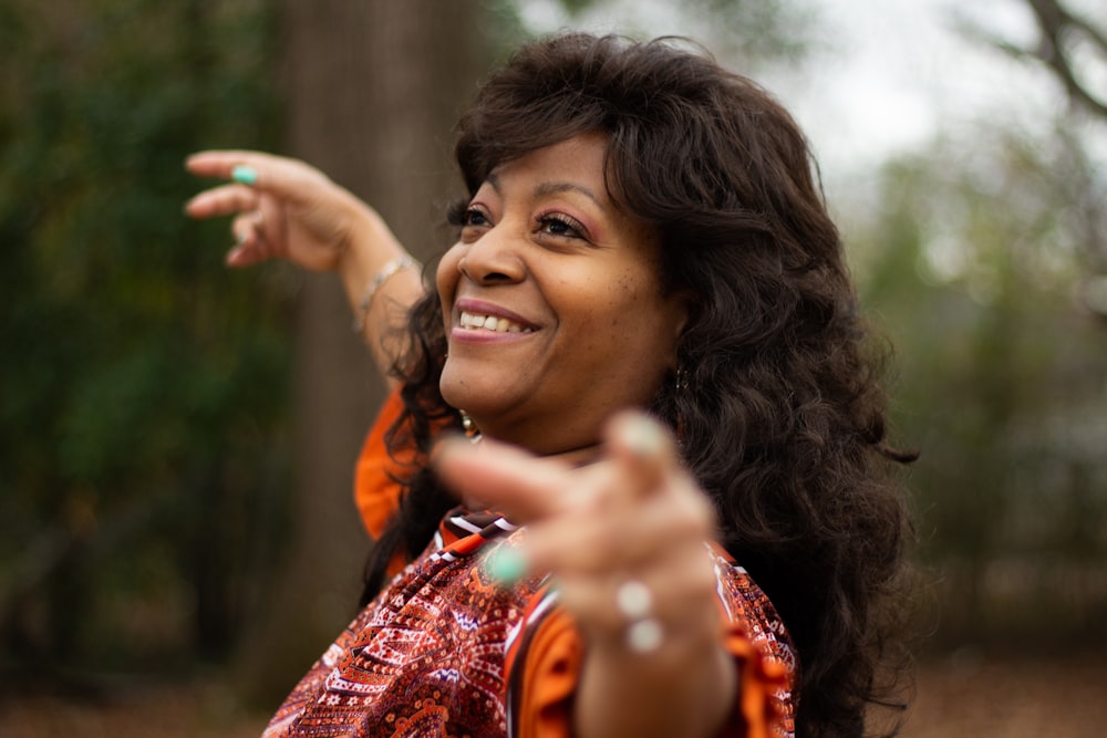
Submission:
[[[513,529],[495,516],[447,516],[423,555],[315,662],[265,736],[506,735],[504,644],[537,583],[501,588],[473,554]]]

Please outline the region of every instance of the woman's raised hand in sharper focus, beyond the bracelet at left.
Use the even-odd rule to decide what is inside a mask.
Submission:
[[[234,216],[236,246],[227,264],[248,267],[287,259],[307,269],[334,271],[369,206],[323,173],[297,159],[242,150],[210,150],[188,157],[186,168],[204,177],[238,181],[199,193],[185,206],[193,218]],[[252,179],[252,181],[250,181]]]

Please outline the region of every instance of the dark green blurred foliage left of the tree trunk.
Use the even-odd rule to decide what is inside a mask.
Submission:
[[[272,553],[284,297],[182,215],[188,153],[277,141],[270,23],[252,0],[0,6],[9,666],[217,652]]]

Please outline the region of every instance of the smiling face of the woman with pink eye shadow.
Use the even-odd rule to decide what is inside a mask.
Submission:
[[[653,231],[608,197],[606,146],[578,136],[497,167],[438,264],[443,397],[539,454],[590,446],[614,410],[648,404],[687,314],[662,294]]]

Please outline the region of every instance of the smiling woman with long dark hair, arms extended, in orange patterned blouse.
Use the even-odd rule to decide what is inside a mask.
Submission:
[[[397,387],[368,605],[269,734],[861,735],[909,457],[790,116],[671,42],[568,34],[485,82],[456,158],[425,293],[310,167],[189,160],[238,180],[188,206],[238,214],[229,263],[338,271]]]

